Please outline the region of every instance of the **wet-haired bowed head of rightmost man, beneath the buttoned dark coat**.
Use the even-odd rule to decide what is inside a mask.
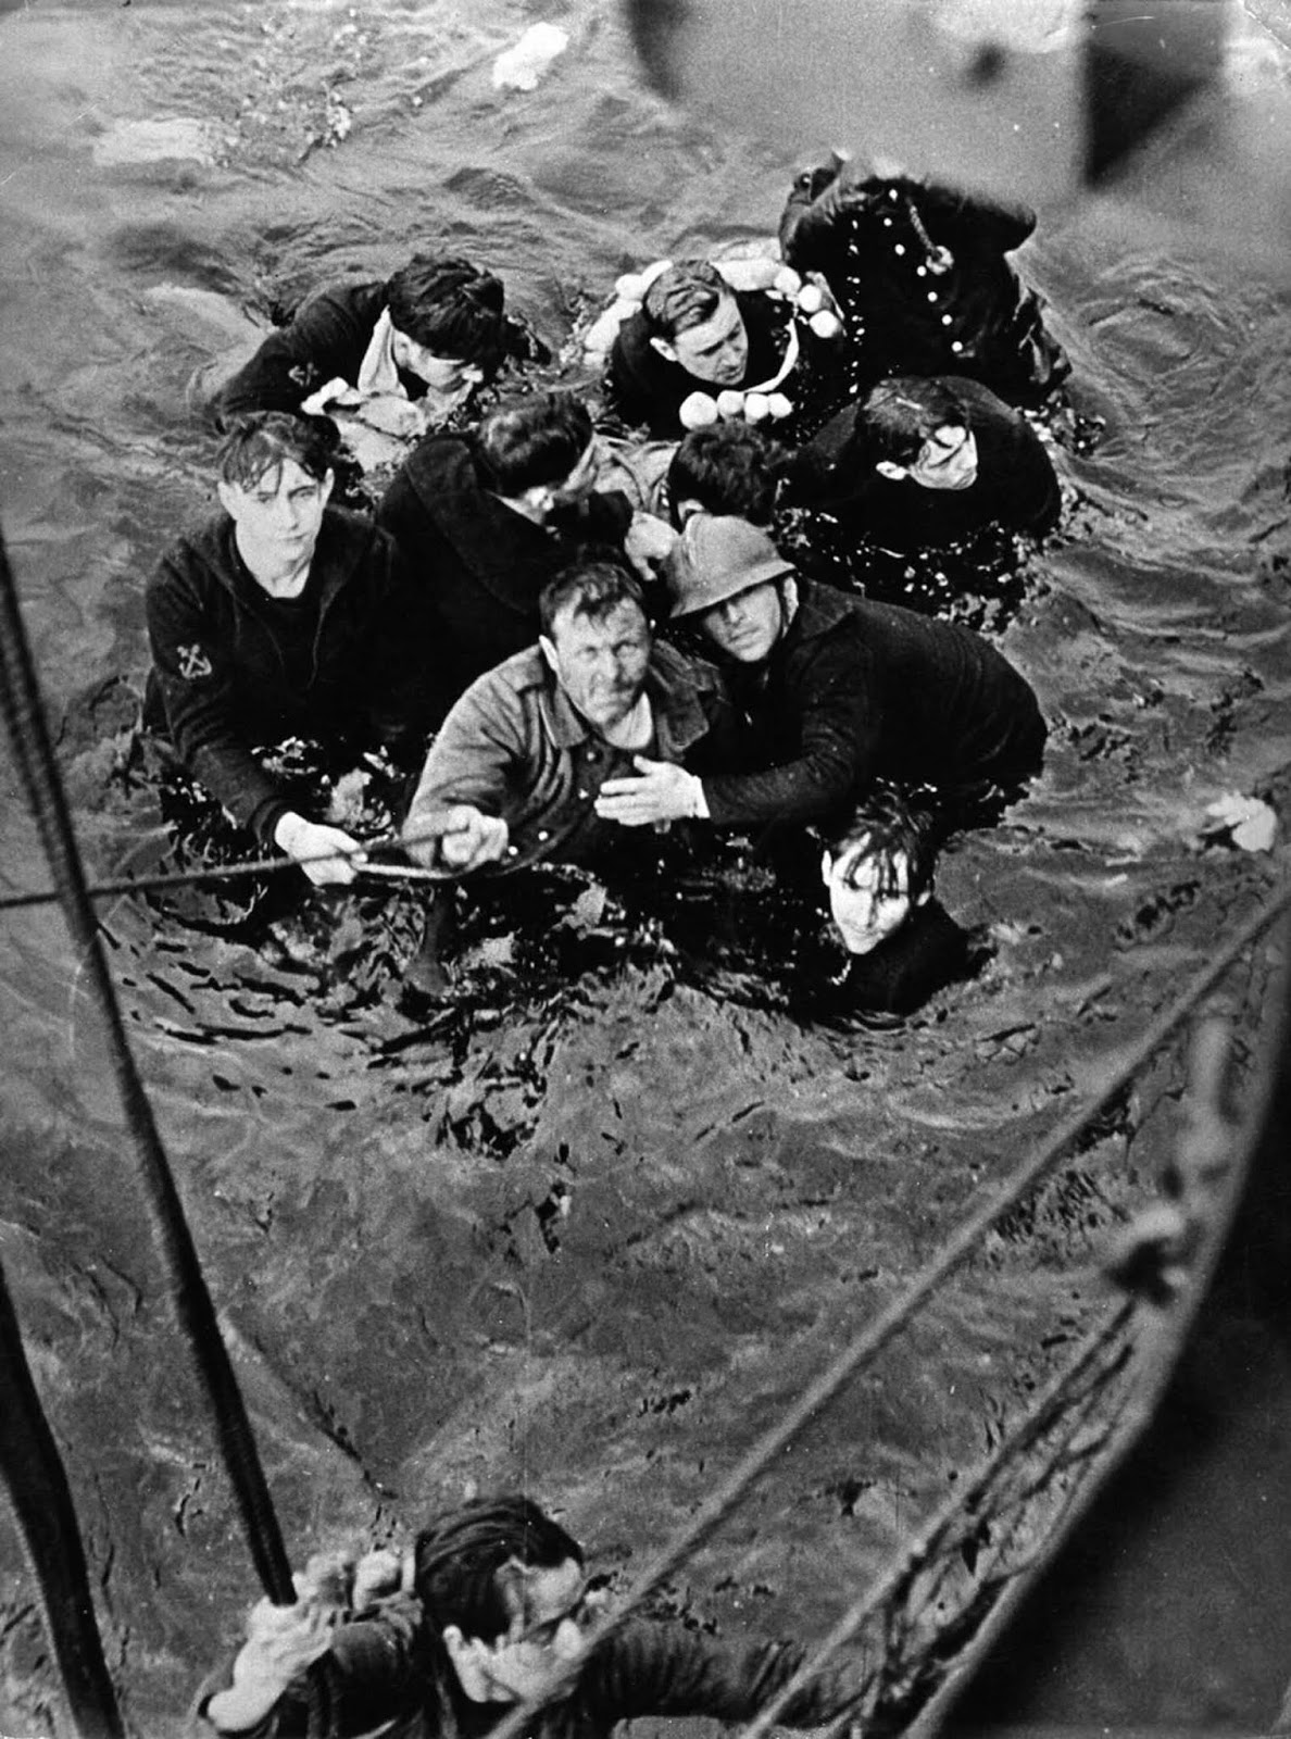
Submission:
[[[868,393],[840,463],[959,490],[978,478],[978,443],[967,407],[947,381],[893,376]]]

